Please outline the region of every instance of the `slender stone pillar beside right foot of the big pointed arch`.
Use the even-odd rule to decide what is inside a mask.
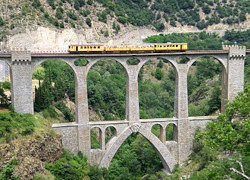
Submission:
[[[187,64],[178,64],[176,75],[175,117],[178,118],[178,160],[191,153],[190,124],[188,120]]]

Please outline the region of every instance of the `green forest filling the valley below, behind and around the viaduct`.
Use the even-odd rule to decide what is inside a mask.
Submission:
[[[146,42],[188,42],[191,49],[220,49],[221,42],[249,47],[249,30],[227,31],[223,37],[216,34],[188,33],[159,35],[147,38]],[[195,42],[192,44],[192,41]],[[204,43],[205,42],[205,43]],[[186,63],[179,59],[178,63]],[[65,150],[60,159],[46,164],[46,169],[56,179],[178,179],[189,175],[189,179],[220,179],[231,177],[242,179],[230,168],[240,170],[242,163],[249,176],[249,112],[250,112],[250,61],[245,66],[245,91],[232,103],[225,113],[207,125],[207,130],[197,131],[194,153],[183,167],[176,166],[172,175],[166,175],[154,147],[140,134],[133,134],[120,147],[109,169],[98,169],[87,163],[79,153],[72,155]],[[199,59],[188,73],[189,116],[211,115],[220,112],[221,64],[213,58]],[[38,81],[35,96],[35,110],[45,118],[61,118],[60,122],[74,121],[74,110],[68,106],[75,101],[73,70],[61,61],[48,60],[39,66],[33,79]],[[146,63],[138,78],[140,118],[173,117],[175,72],[172,65],[164,60]],[[126,75],[123,67],[111,60],[96,63],[88,74],[89,109],[95,120],[125,119]],[[1,83],[0,93],[10,89],[8,83]],[[8,97],[1,96],[1,104],[7,106]],[[166,99],[167,101],[165,101]],[[16,113],[1,113],[0,142],[10,142],[21,136],[36,132],[36,118]],[[27,119],[22,121],[22,119]],[[24,123],[24,124],[20,124]],[[24,127],[24,128],[23,128]],[[112,130],[110,130],[112,136]],[[153,133],[158,136],[157,127]],[[167,129],[167,139],[172,137],[171,127]],[[98,148],[97,132],[91,133],[91,146]],[[0,169],[0,179],[8,179],[17,162],[10,161]],[[67,166],[68,168],[64,168]],[[187,173],[188,172],[188,173]],[[50,176],[36,175],[37,179]],[[12,176],[12,179],[15,179]]]

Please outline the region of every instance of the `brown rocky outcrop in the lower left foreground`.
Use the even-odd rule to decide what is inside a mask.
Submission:
[[[0,145],[0,167],[13,158],[18,161],[14,175],[21,180],[33,179],[35,173],[45,172],[45,163],[59,159],[62,155],[62,142],[58,135],[44,134],[31,140],[15,140]]]

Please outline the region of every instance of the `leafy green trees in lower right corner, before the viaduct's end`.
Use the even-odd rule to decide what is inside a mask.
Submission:
[[[199,167],[190,179],[242,179],[230,169],[241,171],[237,161],[249,176],[249,117],[250,86],[247,85],[245,91],[227,105],[225,113],[208,123],[205,131],[196,132],[192,159]],[[217,158],[221,154],[224,154],[222,158]]]

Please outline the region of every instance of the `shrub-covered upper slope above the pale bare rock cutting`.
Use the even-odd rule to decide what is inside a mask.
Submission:
[[[157,31],[169,25],[204,29],[218,23],[239,24],[250,12],[248,0],[21,0],[2,1],[0,7],[0,40],[10,30],[19,32],[30,25],[81,29],[91,27],[92,21],[110,21],[114,33],[126,24],[152,25]],[[107,29],[102,33],[108,36]]]

